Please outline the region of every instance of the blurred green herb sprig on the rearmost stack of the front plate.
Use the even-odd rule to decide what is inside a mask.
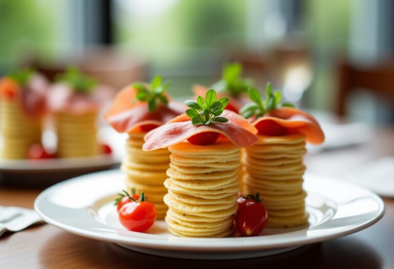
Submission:
[[[241,93],[246,93],[253,85],[252,79],[242,78],[241,74],[240,63],[226,64],[222,70],[222,79],[212,85],[212,88],[219,92],[226,92],[232,97],[238,97]]]

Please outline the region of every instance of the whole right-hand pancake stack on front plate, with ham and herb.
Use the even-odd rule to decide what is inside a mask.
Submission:
[[[259,193],[268,211],[269,227],[289,227],[308,222],[305,211],[306,192],[303,190],[306,154],[305,140],[321,143],[324,134],[318,122],[309,114],[280,103],[279,92],[266,87],[267,97],[249,90],[253,103],[241,109],[244,117],[253,122],[259,140],[246,148],[243,164],[245,193]]]

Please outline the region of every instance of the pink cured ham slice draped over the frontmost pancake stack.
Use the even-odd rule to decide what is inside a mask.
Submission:
[[[249,147],[259,138],[254,133],[257,130],[251,124],[229,110],[225,110],[222,114],[227,117],[227,122],[215,122],[209,126],[195,126],[191,123],[190,118],[186,114],[180,115],[170,120],[165,125],[158,127],[145,135],[144,151],[152,151],[167,148],[173,144],[180,143],[185,139],[204,132],[215,132],[223,135],[237,147]],[[188,118],[188,120],[186,120]]]

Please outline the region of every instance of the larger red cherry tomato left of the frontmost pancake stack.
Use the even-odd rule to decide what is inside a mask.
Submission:
[[[119,211],[119,220],[127,230],[144,232],[156,220],[156,208],[153,203],[145,200],[144,191],[142,191],[138,201],[132,201],[122,206]]]

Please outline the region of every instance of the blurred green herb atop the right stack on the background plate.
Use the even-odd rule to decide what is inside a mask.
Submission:
[[[70,67],[65,73],[57,75],[55,80],[70,84],[74,91],[78,93],[89,93],[97,84],[95,78],[83,74],[75,67]]]

